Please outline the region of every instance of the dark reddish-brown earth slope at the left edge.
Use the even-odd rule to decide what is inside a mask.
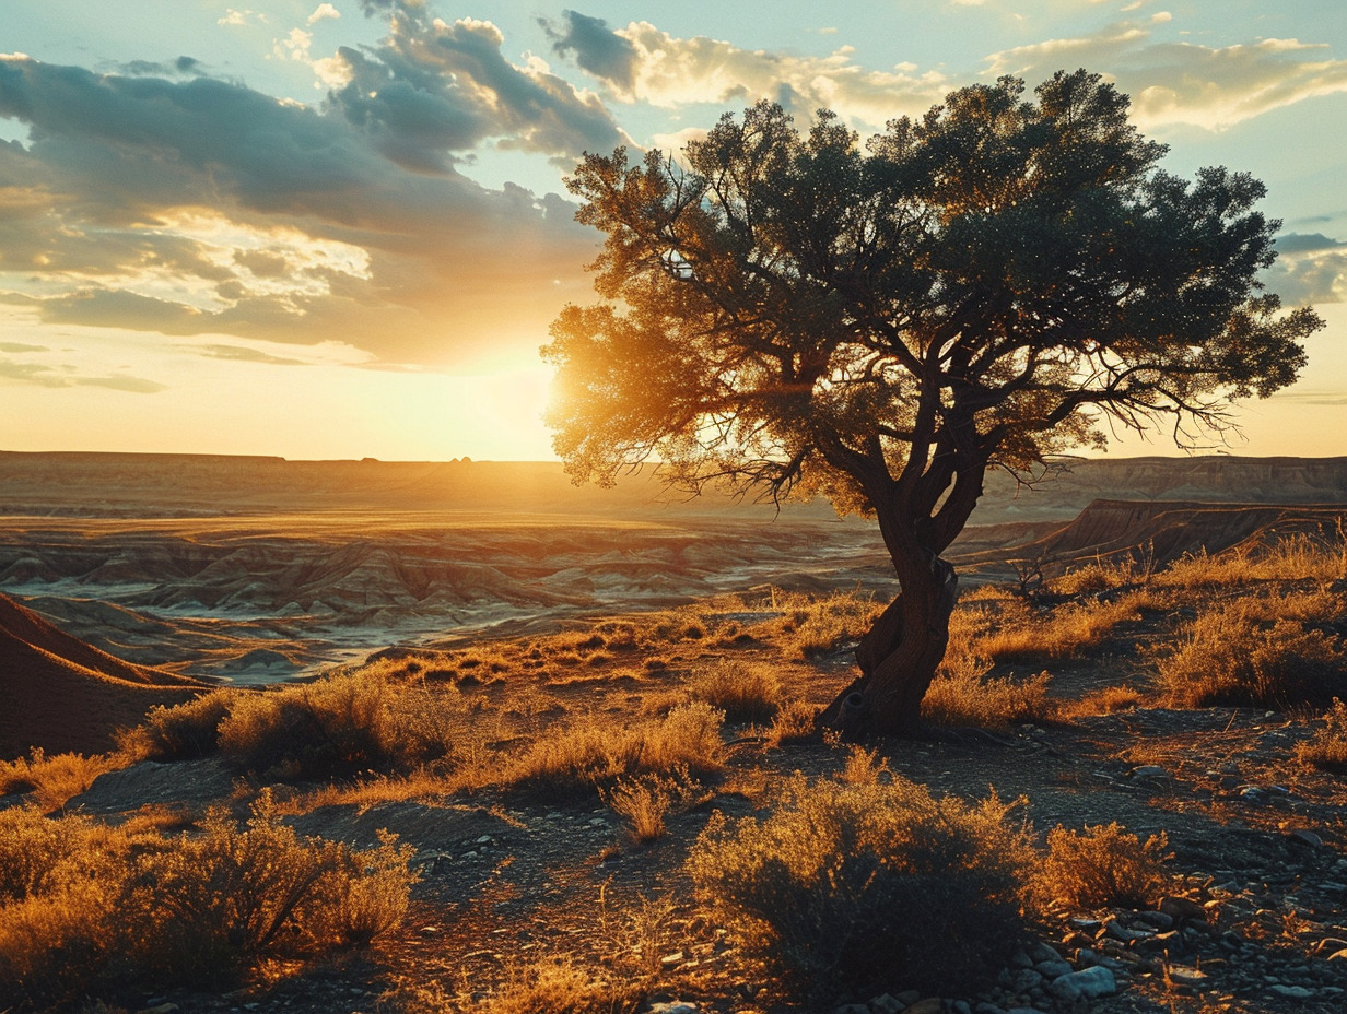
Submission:
[[[0,759],[101,753],[113,731],[137,724],[156,704],[178,704],[206,684],[132,665],[62,633],[0,595]]]

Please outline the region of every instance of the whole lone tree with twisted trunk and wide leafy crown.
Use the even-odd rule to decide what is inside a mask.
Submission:
[[[1167,427],[1294,381],[1321,326],[1258,272],[1280,222],[1262,183],[1158,168],[1098,74],[952,92],[858,137],[820,110],[725,116],[686,164],[618,148],[568,179],[606,233],[602,302],[567,306],[544,358],[575,482],[657,458],[691,490],[823,493],[878,520],[900,594],[822,722],[907,733],[948,641],[942,559],[990,467]]]

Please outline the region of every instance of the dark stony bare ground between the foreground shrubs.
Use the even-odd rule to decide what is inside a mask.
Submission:
[[[742,649],[745,657],[761,646]],[[624,660],[630,665],[638,660]],[[657,671],[674,681],[674,660]],[[822,700],[845,675],[836,653],[793,667],[792,691]],[[1114,679],[1115,665],[1082,664],[1055,675],[1064,699]],[[663,675],[660,675],[663,673]],[[601,676],[601,673],[598,673]],[[653,679],[653,677],[652,677]],[[612,687],[570,691],[622,722],[634,718]],[[640,688],[648,696],[657,685]],[[484,691],[485,692],[485,691]],[[625,710],[624,710],[625,708]],[[892,770],[931,788],[982,799],[1024,797],[1039,832],[1118,821],[1142,840],[1164,832],[1173,883],[1149,910],[1061,912],[1039,943],[1005,968],[990,991],[944,996],[905,992],[838,996],[845,1014],[1056,1014],[1059,1011],[1307,1011],[1347,1005],[1347,785],[1293,761],[1313,727],[1305,715],[1141,707],[1084,714],[1005,733],[944,731],[889,742]],[[370,846],[379,828],[415,846],[420,883],[405,926],[374,947],[307,968],[263,970],[228,994],[144,996],[159,1011],[370,1014],[470,1009],[519,988],[551,959],[591,975],[626,979],[633,1010],[656,1014],[791,1011],[801,1007],[738,948],[692,897],[683,859],[710,815],[762,813],[793,772],[839,772],[849,747],[768,749],[731,738],[727,770],[713,792],[671,819],[669,834],[633,844],[606,807],[484,789],[447,799],[365,800],[307,807],[291,817],[307,835]],[[70,809],[108,819],[140,807],[199,809],[247,786],[218,761],[155,765],[100,778]],[[905,913],[928,918],[932,913]],[[564,1007],[546,1007],[562,1010]]]

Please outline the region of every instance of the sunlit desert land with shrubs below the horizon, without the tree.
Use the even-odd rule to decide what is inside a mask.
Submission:
[[[1057,465],[989,477],[950,553],[928,734],[853,745],[814,718],[894,582],[826,504],[0,455],[0,995],[1339,1010],[1347,459]],[[894,800],[916,824],[828,843]],[[901,840],[967,910],[911,882],[901,925],[847,901]]]

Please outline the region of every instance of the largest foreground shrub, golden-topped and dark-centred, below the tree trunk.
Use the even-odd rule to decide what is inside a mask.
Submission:
[[[1024,943],[1033,852],[1016,804],[935,800],[901,777],[796,777],[769,817],[721,815],[688,856],[699,894],[814,1002],[994,979]]]

